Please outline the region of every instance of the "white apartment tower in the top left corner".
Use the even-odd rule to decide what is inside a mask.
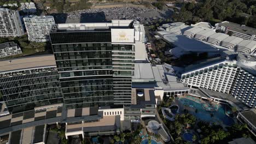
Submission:
[[[24,35],[18,10],[0,8],[0,37],[20,37]]]

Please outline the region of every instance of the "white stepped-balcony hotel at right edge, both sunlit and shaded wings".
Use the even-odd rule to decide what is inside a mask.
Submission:
[[[206,88],[231,94],[250,107],[255,107],[256,77],[254,55],[239,53],[237,61],[226,58],[212,59],[189,66],[181,81],[191,88]]]

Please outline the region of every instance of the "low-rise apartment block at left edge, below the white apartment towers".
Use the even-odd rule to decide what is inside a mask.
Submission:
[[[20,47],[13,41],[0,44],[0,57],[18,55],[22,53]]]

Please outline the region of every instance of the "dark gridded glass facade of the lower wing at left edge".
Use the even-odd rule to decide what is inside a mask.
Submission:
[[[10,113],[63,103],[59,75],[54,67],[1,74],[0,92]]]

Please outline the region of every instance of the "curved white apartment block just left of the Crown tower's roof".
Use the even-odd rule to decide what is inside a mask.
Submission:
[[[55,24],[53,16],[30,15],[23,18],[28,40],[45,42],[50,40],[50,30]]]

